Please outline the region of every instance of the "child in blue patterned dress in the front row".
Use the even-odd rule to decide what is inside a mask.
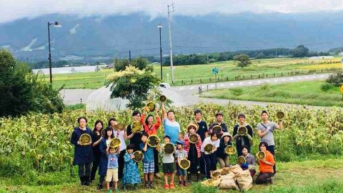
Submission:
[[[129,144],[126,147],[126,154],[124,155],[124,191],[126,192],[126,184],[134,184],[134,189],[137,189],[137,184],[141,182],[139,177],[139,170],[136,162],[134,161],[134,144]]]

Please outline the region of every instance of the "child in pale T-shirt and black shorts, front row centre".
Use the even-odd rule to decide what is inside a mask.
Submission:
[[[162,165],[163,165],[163,173],[164,173],[164,189],[175,189],[174,185],[174,155],[173,154],[166,154],[164,152],[164,146],[170,143],[169,135],[164,136],[164,144],[161,144],[161,149],[159,150],[162,154]],[[170,184],[168,184],[168,176],[170,175]]]

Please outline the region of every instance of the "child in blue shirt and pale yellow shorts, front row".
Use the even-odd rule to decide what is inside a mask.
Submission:
[[[109,182],[113,182],[114,189],[116,192],[119,192],[118,189],[118,157],[120,153],[120,148],[118,147],[117,151],[108,146],[106,149],[108,164],[107,164],[107,172],[106,172],[106,188],[107,193],[111,193],[111,189],[109,189]]]

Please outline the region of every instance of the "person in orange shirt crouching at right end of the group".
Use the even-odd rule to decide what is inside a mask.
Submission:
[[[264,159],[259,159],[256,154],[256,157],[259,161],[259,175],[256,179],[256,184],[266,184],[274,182],[274,169],[275,164],[274,156],[271,152],[267,150],[268,144],[266,142],[259,143],[259,151],[262,151],[266,154]]]

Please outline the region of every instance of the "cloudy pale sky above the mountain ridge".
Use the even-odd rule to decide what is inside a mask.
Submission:
[[[174,0],[177,15],[241,12],[304,13],[343,10],[342,0]],[[171,0],[0,0],[0,23],[33,18],[43,14],[76,14],[80,16],[108,14],[149,14],[166,16]]]

